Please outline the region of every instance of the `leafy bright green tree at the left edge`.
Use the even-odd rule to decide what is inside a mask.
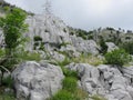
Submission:
[[[7,56],[12,56],[16,48],[23,40],[22,33],[28,30],[28,24],[24,23],[25,18],[27,13],[19,8],[12,9],[4,18],[0,18]]]

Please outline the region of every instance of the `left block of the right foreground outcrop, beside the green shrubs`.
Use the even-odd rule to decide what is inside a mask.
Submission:
[[[69,66],[71,69],[72,63]],[[99,70],[95,67],[92,67],[86,63],[78,63],[74,64],[73,69],[79,72],[79,77],[81,78],[81,86],[82,88],[88,91],[89,93],[95,92],[94,89],[100,86],[99,82]]]

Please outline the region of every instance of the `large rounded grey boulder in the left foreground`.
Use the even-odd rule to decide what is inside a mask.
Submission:
[[[62,88],[64,77],[60,67],[28,61],[12,72],[12,78],[19,100],[45,100]]]

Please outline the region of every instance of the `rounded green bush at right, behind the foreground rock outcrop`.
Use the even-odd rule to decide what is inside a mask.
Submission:
[[[108,64],[123,66],[131,61],[131,56],[123,49],[115,49],[112,52],[108,52],[105,54],[105,60]]]

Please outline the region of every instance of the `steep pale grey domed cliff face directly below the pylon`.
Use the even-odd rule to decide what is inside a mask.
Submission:
[[[40,36],[44,43],[54,46],[61,44],[62,42],[71,43],[68,27],[62,20],[54,16],[29,16],[25,22],[29,23],[29,32],[25,33],[25,36],[31,39],[27,49],[33,48],[34,36]]]

